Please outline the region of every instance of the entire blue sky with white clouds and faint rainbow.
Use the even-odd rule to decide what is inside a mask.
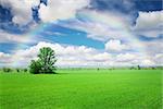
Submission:
[[[0,0],[0,66],[163,65],[162,27],[162,0]]]

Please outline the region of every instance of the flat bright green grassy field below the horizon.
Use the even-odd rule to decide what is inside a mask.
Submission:
[[[162,109],[161,70],[0,73],[0,109]]]

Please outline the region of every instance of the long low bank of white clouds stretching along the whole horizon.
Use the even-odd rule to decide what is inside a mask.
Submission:
[[[51,47],[55,51],[58,66],[155,65],[163,63],[162,61],[155,61],[162,55],[155,57],[147,57],[146,55],[134,52],[112,55],[85,46],[70,46],[45,41],[40,41],[36,46],[25,50],[17,50],[13,55],[1,52],[0,63],[13,66],[27,66],[32,59],[37,59],[37,53],[41,47]]]

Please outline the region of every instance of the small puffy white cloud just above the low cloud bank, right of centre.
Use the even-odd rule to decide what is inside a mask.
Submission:
[[[111,39],[105,44],[105,50],[108,51],[122,51],[129,49],[129,46],[122,44],[121,40]]]

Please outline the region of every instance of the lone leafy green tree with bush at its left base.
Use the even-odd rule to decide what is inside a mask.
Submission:
[[[55,73],[57,62],[55,52],[50,47],[43,47],[39,50],[38,60],[32,60],[29,72],[34,74],[52,74]]]

